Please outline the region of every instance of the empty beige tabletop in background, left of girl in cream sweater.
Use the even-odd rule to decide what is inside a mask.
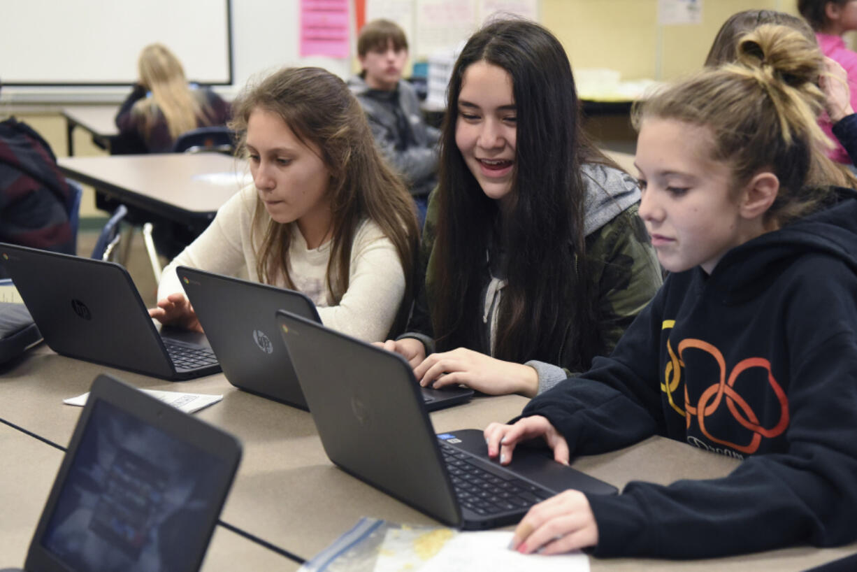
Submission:
[[[219,153],[63,157],[66,177],[138,208],[180,222],[213,218],[237,190],[252,183],[247,164]]]

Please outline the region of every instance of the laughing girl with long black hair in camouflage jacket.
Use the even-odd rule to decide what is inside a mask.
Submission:
[[[660,286],[639,190],[584,139],[545,28],[482,28],[447,91],[424,281],[410,331],[385,346],[423,386],[532,396],[608,354]]]

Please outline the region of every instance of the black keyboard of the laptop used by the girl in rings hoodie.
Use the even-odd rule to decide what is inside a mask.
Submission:
[[[440,453],[452,480],[458,503],[477,515],[495,515],[510,510],[529,509],[554,493],[518,479],[501,467],[477,467],[474,457],[440,442]]]

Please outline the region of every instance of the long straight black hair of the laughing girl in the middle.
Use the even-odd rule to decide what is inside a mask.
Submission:
[[[566,52],[547,29],[531,21],[494,21],[482,27],[452,69],[441,135],[437,238],[429,269],[435,277],[429,285],[434,337],[439,349],[472,346],[484,286],[475,269],[484,267],[500,217],[497,202],[482,192],[455,143],[464,72],[481,61],[512,77],[518,126],[509,208],[501,217],[500,236],[493,239],[507,253],[494,356],[518,363],[560,363],[560,355],[577,352],[585,367],[598,340],[585,263],[580,165],[582,155],[588,160],[598,154],[579,131]],[[580,334],[572,347],[565,346],[569,328]]]

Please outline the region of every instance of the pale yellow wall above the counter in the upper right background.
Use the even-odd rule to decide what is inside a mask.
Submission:
[[[542,0],[541,21],[565,45],[572,68],[618,69],[623,80],[666,80],[699,69],[717,30],[735,12],[797,13],[795,0],[702,2],[701,24],[662,27],[660,42],[657,0]]]

